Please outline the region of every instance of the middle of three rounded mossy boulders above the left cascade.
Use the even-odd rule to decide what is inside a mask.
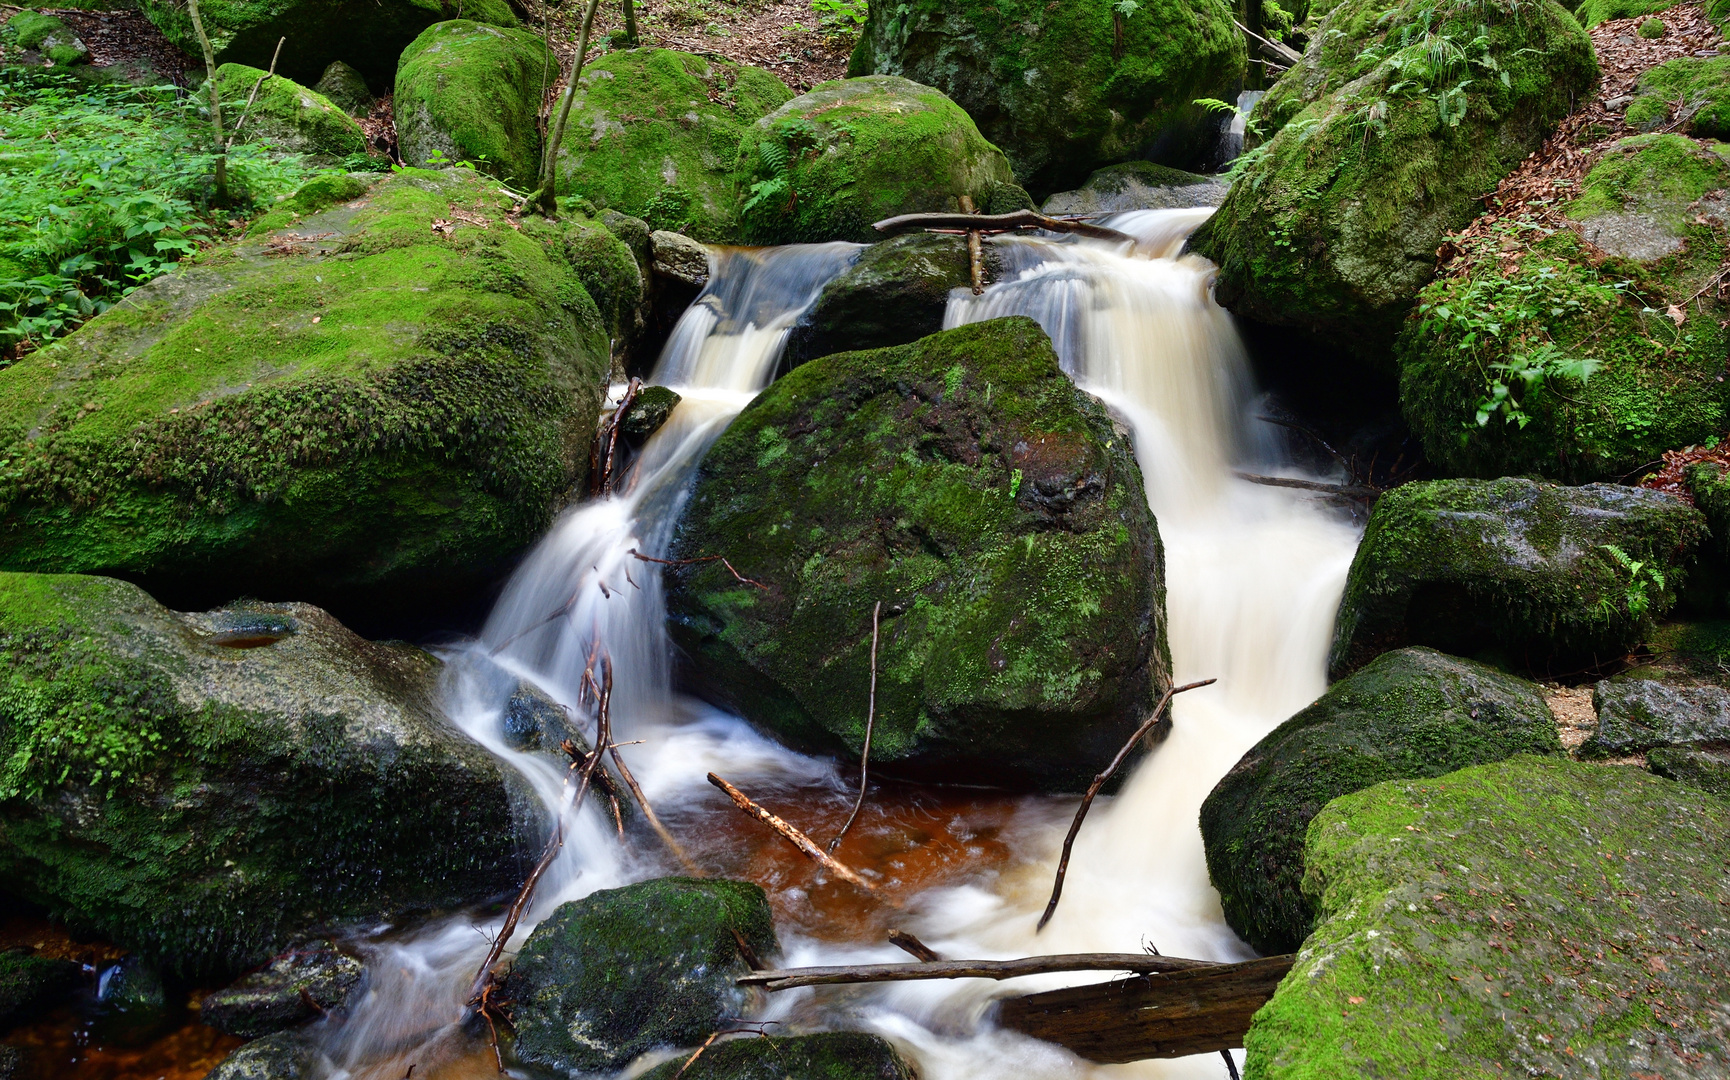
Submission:
[[[609,52],[583,69],[559,190],[650,228],[735,241],[739,140],[791,99],[761,68],[671,48]]]

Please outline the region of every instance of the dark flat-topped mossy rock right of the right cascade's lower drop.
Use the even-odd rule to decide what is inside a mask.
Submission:
[[[1706,521],[1644,488],[1438,479],[1382,495],[1334,628],[1339,677],[1406,644],[1621,656],[1676,602]]]

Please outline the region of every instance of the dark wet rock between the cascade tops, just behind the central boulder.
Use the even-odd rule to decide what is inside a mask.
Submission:
[[[998,248],[981,249],[986,280],[998,280]],[[872,244],[832,279],[787,334],[785,363],[919,341],[943,329],[952,289],[967,289],[967,239],[908,234]]]

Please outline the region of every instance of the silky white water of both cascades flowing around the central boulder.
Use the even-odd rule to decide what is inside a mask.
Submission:
[[[1138,237],[1133,251],[1099,242],[998,241],[1012,280],[984,296],[958,291],[948,324],[1031,315],[1050,332],[1066,370],[1135,436],[1147,497],[1166,547],[1168,632],[1178,682],[1218,678],[1180,696],[1171,737],[1114,800],[1088,819],[1052,924],[1033,926],[1050,890],[1067,815],[1035,819],[1028,858],[960,888],[920,897],[905,924],[946,955],[1133,952],[1251,955],[1220,917],[1208,883],[1197,812],[1220,775],[1261,736],[1325,687],[1334,609],[1356,543],[1355,528],[1313,498],[1256,486],[1233,467],[1278,467],[1251,419],[1253,386],[1230,317],[1209,294],[1211,267],[1175,258],[1209,211],[1140,211],[1112,222]],[[521,768],[547,807],[559,807],[561,770],[500,739],[500,704],[516,677],[576,703],[592,646],[616,661],[614,730],[644,739],[625,753],[663,812],[695,803],[704,774],[839,784],[825,762],[792,755],[740,720],[670,691],[659,573],[630,554],[664,554],[702,450],[773,376],[799,312],[851,248],[829,244],[718,256],[711,289],[687,313],[650,382],[683,402],[604,502],[567,512],[500,599],[481,640],[455,658],[448,708],[493,753]],[[564,611],[554,621],[550,613]],[[725,768],[721,768],[725,767]],[[1028,813],[1035,813],[1028,810]],[[621,853],[609,822],[585,810],[512,938],[559,903],[664,872]],[[497,926],[434,924],[377,945],[367,999],[325,1037],[332,1075],[417,1077],[465,1044],[450,1026]],[[837,948],[784,933],[789,964],[898,961],[889,945]],[[1097,980],[1097,976],[1092,976]],[[991,1030],[993,997],[1090,981],[1047,976],[1016,983],[903,983],[848,992],[792,992],[775,1016],[818,1018],[893,1038],[932,1080],[1003,1077],[1223,1077],[1218,1056],[1088,1066],[1069,1054]]]

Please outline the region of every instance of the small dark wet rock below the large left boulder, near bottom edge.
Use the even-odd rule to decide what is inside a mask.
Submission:
[[[199,1018],[218,1032],[260,1038],[343,1009],[363,974],[362,962],[332,942],[303,942],[208,995]]]

